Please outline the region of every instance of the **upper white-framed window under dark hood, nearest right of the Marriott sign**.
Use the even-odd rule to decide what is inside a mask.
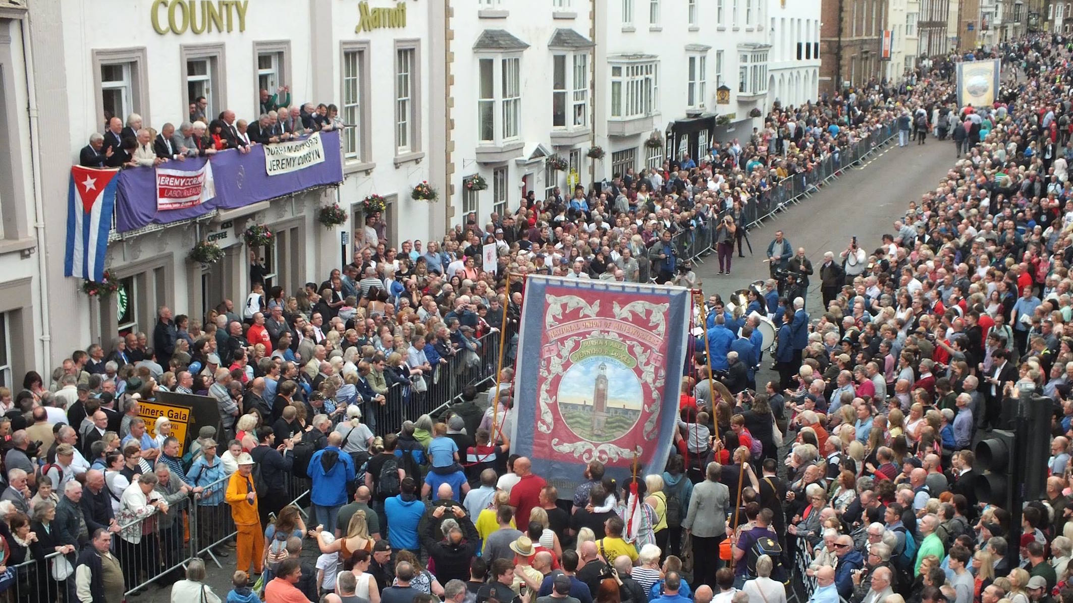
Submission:
[[[521,120],[521,59],[483,58],[477,61],[477,134],[482,142],[518,136]]]

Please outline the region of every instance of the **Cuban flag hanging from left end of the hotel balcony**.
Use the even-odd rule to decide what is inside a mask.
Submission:
[[[118,169],[73,166],[68,192],[68,238],[63,275],[104,280],[112,214],[116,210]]]

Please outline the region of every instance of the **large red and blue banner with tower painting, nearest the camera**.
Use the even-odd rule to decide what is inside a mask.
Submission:
[[[530,275],[511,452],[562,497],[598,459],[618,480],[636,457],[662,472],[678,416],[687,289]]]

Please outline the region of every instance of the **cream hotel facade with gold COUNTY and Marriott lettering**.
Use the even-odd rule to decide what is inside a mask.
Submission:
[[[29,5],[36,110],[48,116],[36,146],[47,215],[65,216],[69,166],[90,134],[103,132],[106,115],[138,114],[159,131],[165,122],[178,126],[189,118],[189,103],[205,96],[209,118],[231,109],[252,122],[261,112],[260,90],[280,86],[290,87],[292,107],[313,102],[339,108],[347,123],[340,136],[344,181],[113,232],[106,268],[120,290],[104,299],[82,293],[80,280],[62,277],[65,230],[60,220],[49,221],[42,332],[52,351],[42,351],[39,365],[89,342],[108,349],[120,333],[149,333],[161,305],[199,321],[223,299],[240,307],[251,258],[263,261],[266,289],[280,286],[294,295],[308,281],[320,283],[343,258],[349,261],[354,233],[362,232],[361,200],[371,193],[388,201],[391,245],[426,237],[435,206],[411,200],[410,191],[429,180],[428,3],[134,0],[117,11],[89,0]],[[326,228],[318,213],[335,202],[349,220]],[[250,248],[241,237],[250,225],[269,227],[275,243]],[[224,247],[224,258],[210,266],[189,261],[189,250],[206,239]]]

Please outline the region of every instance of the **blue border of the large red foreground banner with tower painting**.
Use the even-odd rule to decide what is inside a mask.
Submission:
[[[661,303],[670,303],[668,332],[665,371],[666,380],[663,386],[663,401],[660,407],[659,434],[653,442],[657,447],[651,462],[643,465],[643,474],[662,473],[667,455],[672,449],[674,429],[678,421],[678,395],[681,389],[681,378],[686,366],[686,353],[689,346],[689,289],[661,285],[640,285],[635,283],[617,283],[597,280],[574,280],[556,276],[529,275],[526,281],[525,301],[521,308],[521,327],[518,332],[517,371],[514,375],[515,421],[511,433],[511,452],[529,457],[532,461],[533,472],[543,477],[549,484],[556,486],[560,498],[572,498],[577,484],[584,481],[586,463],[556,463],[545,458],[533,458],[536,425],[536,383],[540,371],[542,334],[544,325],[544,296],[548,285],[575,288],[587,299],[596,299],[601,291],[615,293],[633,293],[637,299],[645,297],[658,298]],[[530,341],[531,340],[531,341]],[[526,432],[521,432],[523,426]],[[519,436],[519,434],[521,434]],[[628,467],[607,467],[605,474],[619,480],[630,477]]]

